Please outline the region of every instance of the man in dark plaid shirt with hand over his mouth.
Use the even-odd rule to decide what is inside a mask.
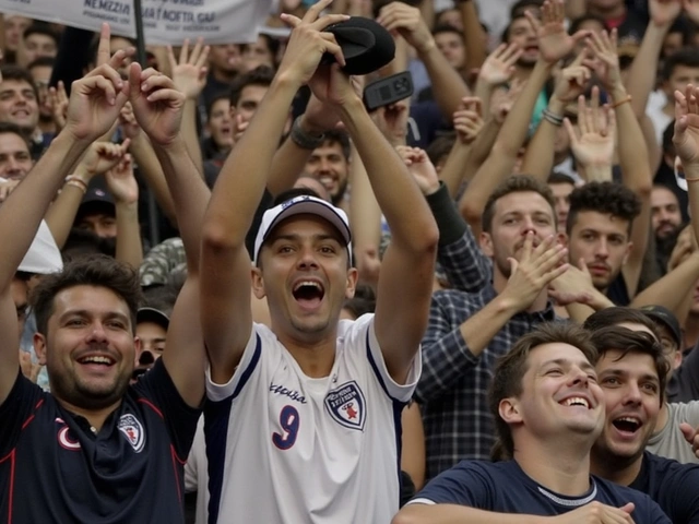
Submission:
[[[423,338],[415,396],[423,407],[428,478],[461,460],[489,457],[495,428],[486,391],[495,360],[535,325],[554,320],[547,287],[568,267],[544,182],[506,179],[486,202],[482,223],[491,284],[473,294],[435,293]]]

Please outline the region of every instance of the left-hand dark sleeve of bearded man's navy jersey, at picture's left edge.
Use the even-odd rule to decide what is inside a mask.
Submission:
[[[0,461],[17,444],[25,422],[38,407],[44,392],[24,377],[17,367],[17,378],[5,401],[0,404]]]

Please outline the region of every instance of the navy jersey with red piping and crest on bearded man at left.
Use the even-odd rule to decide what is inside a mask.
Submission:
[[[97,434],[20,373],[0,405],[0,522],[183,523],[182,466],[200,414],[162,359]]]

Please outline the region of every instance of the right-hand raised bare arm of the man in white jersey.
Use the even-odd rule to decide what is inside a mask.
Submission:
[[[375,330],[389,373],[404,383],[427,326],[437,225],[417,183],[367,114],[350,79],[333,66],[328,82],[311,88],[337,108],[391,228],[379,274]]]

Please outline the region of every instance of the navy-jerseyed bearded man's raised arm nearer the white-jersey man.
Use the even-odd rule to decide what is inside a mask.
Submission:
[[[200,236],[211,193],[180,130],[185,95],[170,79],[153,69],[141,71],[134,63],[129,73],[133,112],[147,133],[167,180],[187,257],[187,281],[173,310],[163,362],[185,402],[199,406],[204,395],[205,361],[199,314]]]

